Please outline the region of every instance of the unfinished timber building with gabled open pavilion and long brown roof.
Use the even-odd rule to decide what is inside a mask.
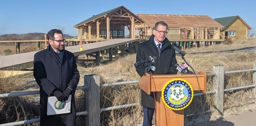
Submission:
[[[152,35],[155,23],[163,20],[168,24],[169,40],[218,40],[222,26],[207,15],[133,14],[124,6],[93,15],[76,24],[77,36],[82,39],[145,38]],[[127,28],[127,29],[126,29]],[[129,35],[125,36],[125,31]]]

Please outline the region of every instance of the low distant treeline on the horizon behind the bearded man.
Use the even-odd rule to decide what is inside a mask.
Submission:
[[[0,35],[0,41],[8,41],[8,40],[43,40],[44,35],[47,33],[26,33],[26,34],[5,34]],[[69,34],[64,34],[65,39],[72,39],[76,36],[71,36]]]

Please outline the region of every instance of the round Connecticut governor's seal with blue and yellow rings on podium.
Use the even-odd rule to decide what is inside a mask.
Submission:
[[[183,110],[192,102],[193,89],[185,79],[175,78],[164,85],[161,96],[168,108]]]

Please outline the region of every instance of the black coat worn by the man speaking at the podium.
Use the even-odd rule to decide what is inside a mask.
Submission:
[[[172,49],[170,41],[166,38],[162,42],[161,54],[158,54],[158,48],[154,42],[154,35],[151,35],[148,41],[144,41],[139,44],[136,62],[147,60],[148,56],[155,56],[157,59],[155,60],[155,72],[154,74],[177,74],[176,66],[176,54],[175,50]],[[150,65],[150,64],[149,64]],[[142,77],[145,73],[145,66],[140,65],[136,68],[137,73]],[[141,104],[143,107],[147,108],[155,108],[155,100],[154,95],[151,93],[150,95],[146,94],[143,90],[141,91],[142,100]]]

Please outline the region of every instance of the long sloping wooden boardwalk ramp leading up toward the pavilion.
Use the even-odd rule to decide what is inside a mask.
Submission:
[[[82,44],[82,50],[80,51],[80,45],[74,45],[71,47],[65,47],[68,51],[72,52],[78,59],[78,56],[82,54],[88,54],[93,52],[102,51],[104,49],[115,48],[125,44],[138,44],[144,41],[144,39],[112,39],[108,41],[102,41],[97,43]],[[34,54],[38,52],[19,53],[9,56],[0,57],[0,69],[1,70],[22,70],[31,68],[34,66]],[[97,54],[97,53],[96,53]],[[112,56],[110,54],[110,56]],[[96,57],[97,58],[97,57]],[[96,60],[97,61],[97,60]]]

